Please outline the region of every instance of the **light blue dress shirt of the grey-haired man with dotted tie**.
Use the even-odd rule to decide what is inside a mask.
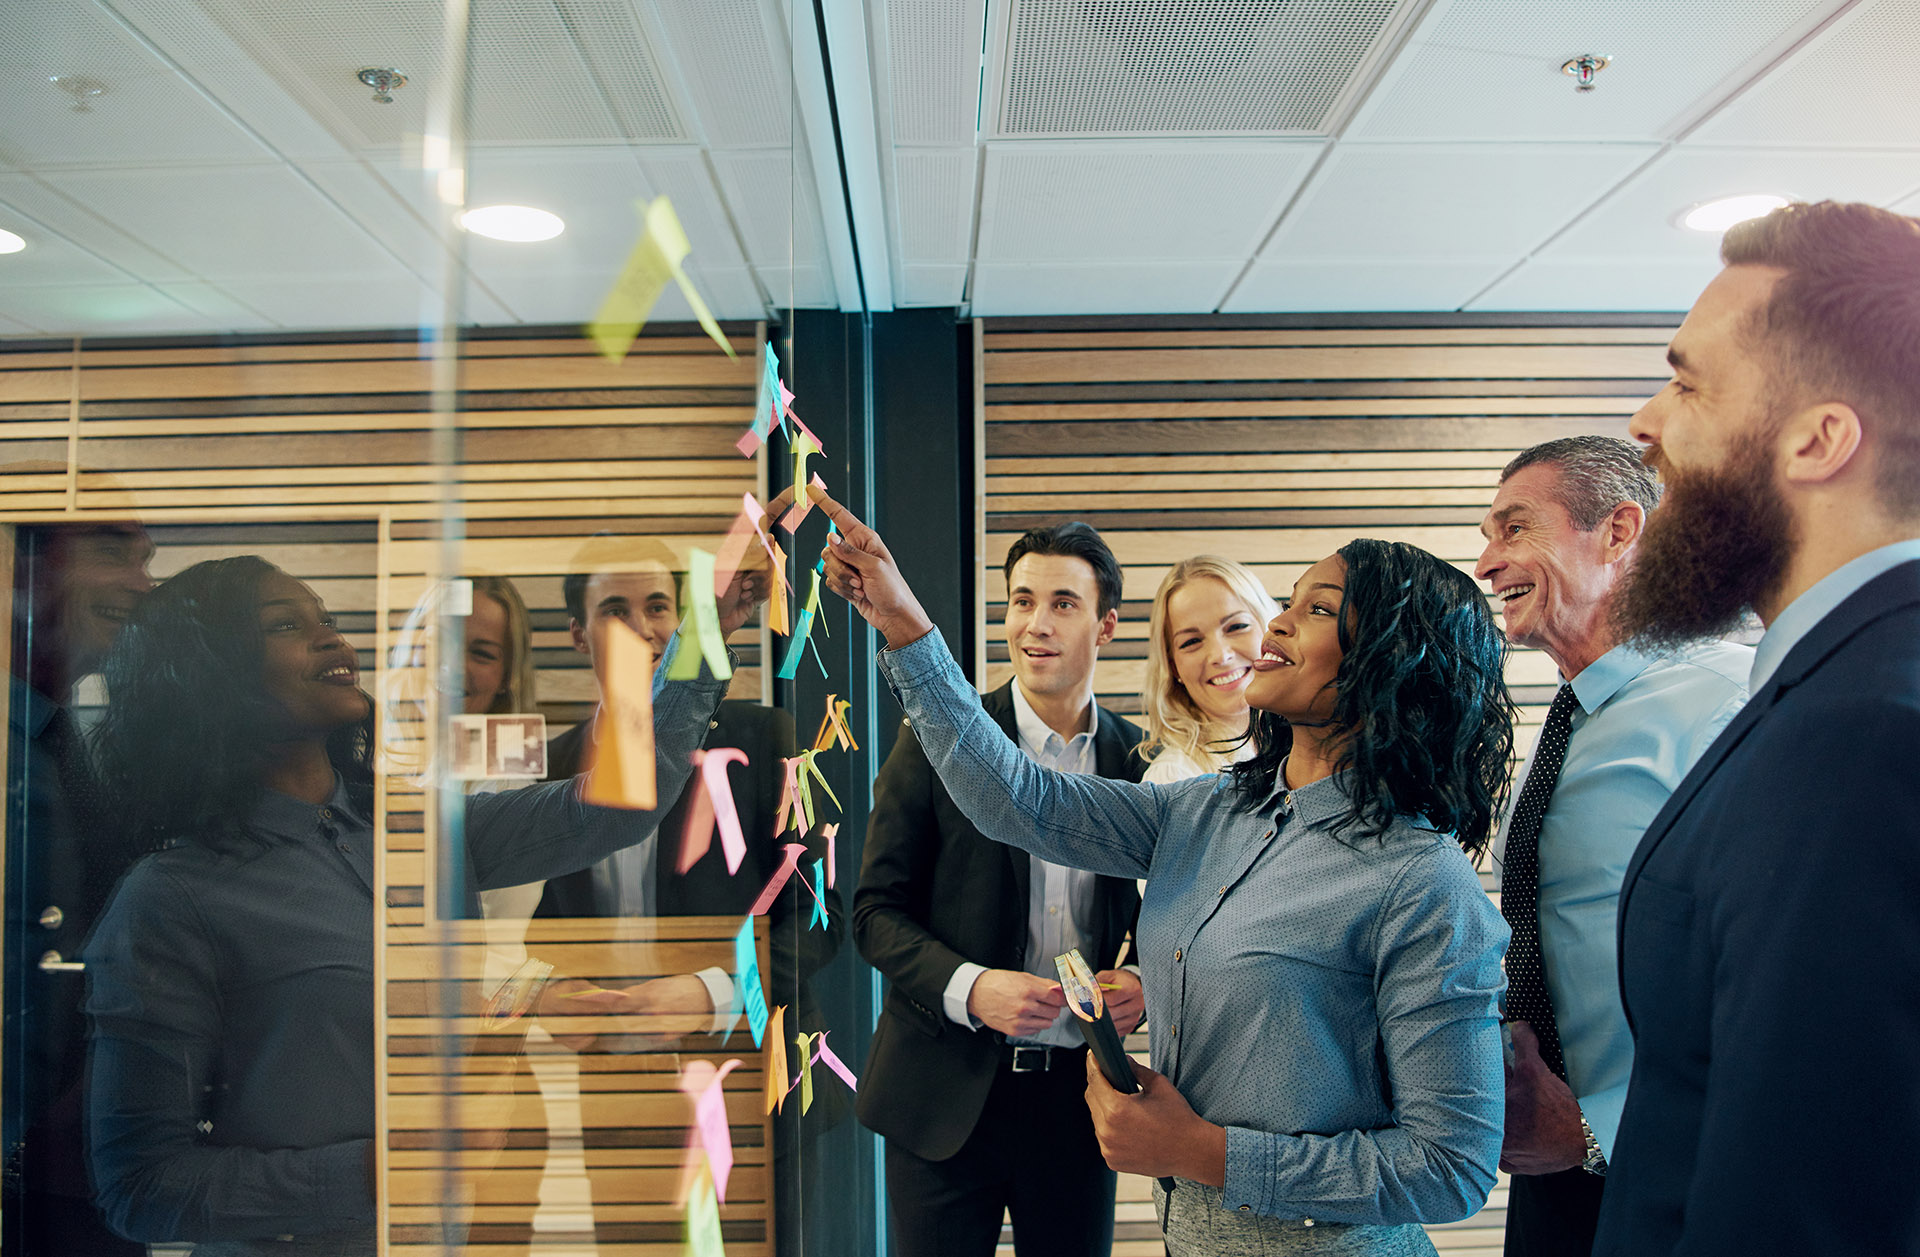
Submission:
[[[1667,796],[1745,706],[1751,664],[1751,647],[1726,641],[1661,658],[1615,647],[1571,681],[1580,702],[1540,821],[1540,954],[1567,1086],[1601,1155],[1613,1155],[1634,1069],[1615,961],[1626,864]],[[1515,777],[1515,798],[1530,768],[1532,754]],[[1511,821],[1509,808],[1494,837],[1496,879]]]

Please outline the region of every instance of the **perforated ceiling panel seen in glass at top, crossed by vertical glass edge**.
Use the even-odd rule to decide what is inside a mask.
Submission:
[[[284,0],[200,0],[307,109],[355,150],[390,150],[426,130],[442,86],[438,4],[334,0],[324,19]],[[474,144],[680,140],[659,61],[624,0],[490,0],[472,17]],[[372,104],[361,65],[409,77]]]

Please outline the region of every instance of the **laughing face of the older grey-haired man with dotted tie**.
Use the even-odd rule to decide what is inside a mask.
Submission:
[[[1586,532],[1574,526],[1561,505],[1561,476],[1536,462],[1501,482],[1480,522],[1486,549],[1473,574],[1500,603],[1507,641],[1540,647],[1571,677],[1607,652],[1609,599],[1624,551],[1611,518]]]

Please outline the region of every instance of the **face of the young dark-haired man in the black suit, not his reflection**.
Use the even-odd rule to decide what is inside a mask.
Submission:
[[[1092,564],[1071,555],[1021,555],[1006,589],[1006,647],[1027,695],[1092,689],[1092,662],[1119,626],[1098,612]]]

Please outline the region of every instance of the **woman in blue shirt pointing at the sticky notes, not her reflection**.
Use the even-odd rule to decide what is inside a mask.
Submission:
[[[887,637],[881,670],[983,833],[1146,875],[1154,1069],[1089,1071],[1108,1161],[1154,1188],[1173,1257],[1432,1253],[1475,1213],[1501,1138],[1507,927],[1467,850],[1507,775],[1503,641],[1473,580],[1352,541],[1267,626],[1231,775],[1052,773],[979,699],[879,537],[837,503],[828,583]],[[1463,846],[1467,850],[1463,850]]]

